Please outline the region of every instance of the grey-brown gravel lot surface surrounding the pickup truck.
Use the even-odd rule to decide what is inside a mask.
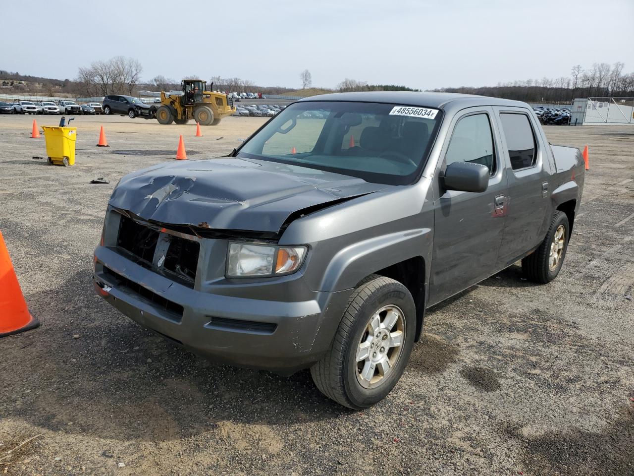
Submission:
[[[119,178],[172,159],[181,133],[202,159],[264,119],[195,138],[191,124],[80,116],[77,165],[63,168],[32,159],[46,154],[33,118],[0,116],[0,230],[42,323],[0,340],[0,474],[634,474],[634,128],[546,128],[590,146],[559,277],[536,286],[515,265],[433,308],[399,385],[354,412],[307,371],[216,366],[93,292]],[[100,124],[108,148],[94,147]]]

